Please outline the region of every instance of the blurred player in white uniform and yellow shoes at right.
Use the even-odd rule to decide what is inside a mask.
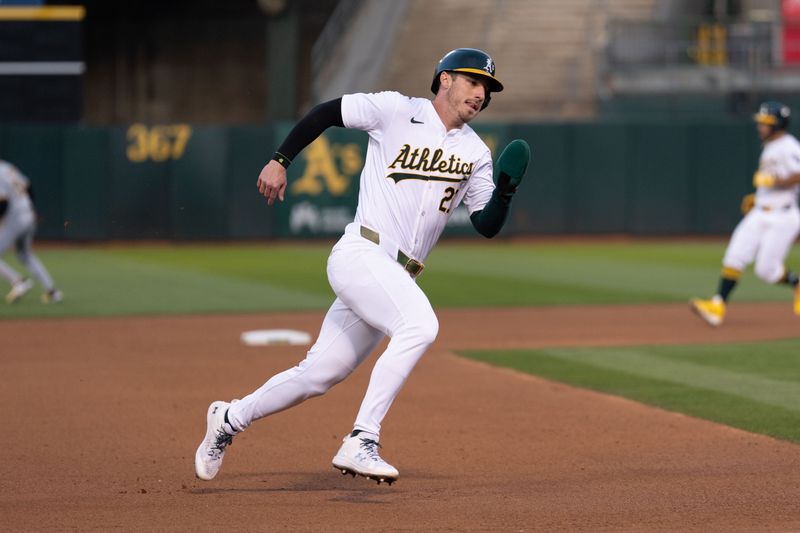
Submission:
[[[764,102],[753,116],[764,143],[758,170],[753,175],[754,195],[745,196],[745,217],[736,226],[722,259],[719,288],[710,300],[695,298],[692,310],[712,326],[725,320],[728,297],[742,271],[755,261],[756,276],[767,283],[782,283],[794,290],[794,312],[800,315],[797,273],[784,260],[800,231],[797,207],[800,184],[800,143],[786,131],[790,111],[780,102]],[[751,205],[752,204],[752,205]]]

